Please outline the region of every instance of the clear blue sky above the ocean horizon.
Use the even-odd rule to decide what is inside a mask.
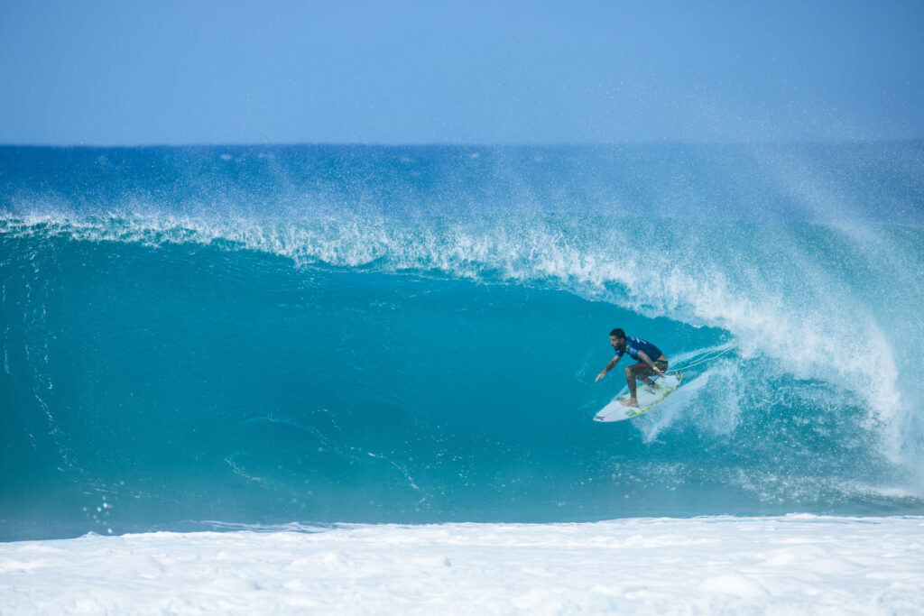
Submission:
[[[924,138],[924,2],[0,4],[0,143]]]

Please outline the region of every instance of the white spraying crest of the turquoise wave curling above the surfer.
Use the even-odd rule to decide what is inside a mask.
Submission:
[[[721,327],[745,355],[772,356],[800,378],[837,380],[886,420],[918,402],[900,383],[899,364],[909,357],[894,353],[903,346],[894,330],[913,315],[895,315],[897,308],[885,310],[877,301],[884,296],[914,306],[924,300],[916,273],[924,240],[916,228],[868,226],[857,233],[830,225],[562,214],[296,222],[45,214],[7,218],[2,230],[247,249],[297,266],[552,285],[651,318]],[[909,379],[917,382],[913,373],[901,381]]]

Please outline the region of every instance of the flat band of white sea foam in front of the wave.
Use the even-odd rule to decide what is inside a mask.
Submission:
[[[0,612],[912,614],[922,553],[922,517],[91,535],[0,544]]]

